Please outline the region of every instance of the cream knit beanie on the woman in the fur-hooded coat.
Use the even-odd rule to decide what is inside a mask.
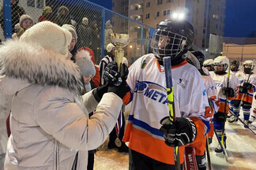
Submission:
[[[50,21],[43,21],[24,31],[20,42],[29,43],[32,46],[39,45],[45,50],[66,58],[69,53],[68,46],[71,39],[70,31]]]

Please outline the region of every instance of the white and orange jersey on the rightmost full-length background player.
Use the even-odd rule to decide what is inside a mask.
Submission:
[[[238,86],[243,86],[243,83],[247,82],[249,74],[246,74],[245,72],[237,72],[235,74],[235,76],[239,80]],[[239,93],[239,87],[237,87],[237,89],[236,89],[237,95],[235,97],[235,100],[241,100],[243,97],[244,102],[249,102],[249,103],[253,102],[254,92],[256,91],[256,74],[254,72],[250,73],[250,79],[249,79],[248,83],[251,83],[253,85],[253,88],[251,90],[247,91],[247,93],[243,95],[243,94]]]

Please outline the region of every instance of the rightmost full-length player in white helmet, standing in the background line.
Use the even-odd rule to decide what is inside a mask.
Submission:
[[[250,118],[250,108],[254,98],[254,92],[256,90],[256,74],[252,72],[254,69],[254,61],[247,60],[243,62],[243,72],[237,72],[235,76],[237,76],[239,80],[239,88],[237,88],[237,94],[235,99],[232,101],[230,111],[235,114],[235,116],[239,116],[239,105],[241,100],[241,107],[243,108],[243,120],[244,123],[247,124],[244,127],[248,127],[249,118]],[[250,75],[250,79],[248,77]],[[228,120],[229,123],[237,121],[238,118],[235,116],[231,116]]]

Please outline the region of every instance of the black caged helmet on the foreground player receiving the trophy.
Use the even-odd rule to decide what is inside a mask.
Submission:
[[[163,38],[165,37],[165,38]],[[161,41],[164,47],[159,46]],[[160,61],[170,56],[171,60],[178,60],[186,54],[194,42],[194,28],[186,20],[166,19],[161,21],[152,36],[151,48],[153,54]]]

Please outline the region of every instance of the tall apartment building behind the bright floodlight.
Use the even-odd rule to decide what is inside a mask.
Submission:
[[[156,28],[161,20],[183,13],[194,26],[194,44],[209,48],[209,35],[224,35],[226,0],[112,0],[113,10]],[[123,25],[127,27],[127,25]]]

